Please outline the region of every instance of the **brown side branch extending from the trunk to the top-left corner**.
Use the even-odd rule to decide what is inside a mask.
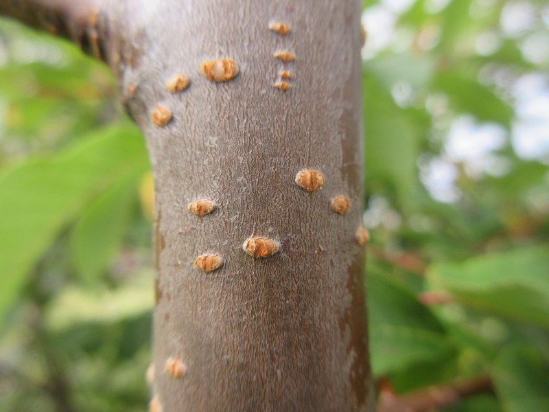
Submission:
[[[84,52],[107,60],[104,0],[0,0],[0,14],[68,38]]]

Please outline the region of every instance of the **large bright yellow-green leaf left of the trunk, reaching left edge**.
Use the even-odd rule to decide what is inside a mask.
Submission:
[[[137,128],[113,126],[0,176],[0,319],[60,229],[100,190],[146,162]]]

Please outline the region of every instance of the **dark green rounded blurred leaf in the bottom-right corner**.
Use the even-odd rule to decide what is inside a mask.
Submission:
[[[530,347],[503,350],[492,378],[505,412],[549,411],[549,365]]]

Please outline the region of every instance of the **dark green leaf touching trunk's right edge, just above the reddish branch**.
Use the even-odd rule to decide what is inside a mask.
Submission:
[[[441,323],[394,281],[368,275],[369,329],[374,374],[386,374],[453,351]]]

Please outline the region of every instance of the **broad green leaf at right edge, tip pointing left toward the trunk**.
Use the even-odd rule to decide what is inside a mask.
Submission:
[[[466,306],[549,328],[548,267],[549,247],[532,247],[435,264],[428,281]]]

